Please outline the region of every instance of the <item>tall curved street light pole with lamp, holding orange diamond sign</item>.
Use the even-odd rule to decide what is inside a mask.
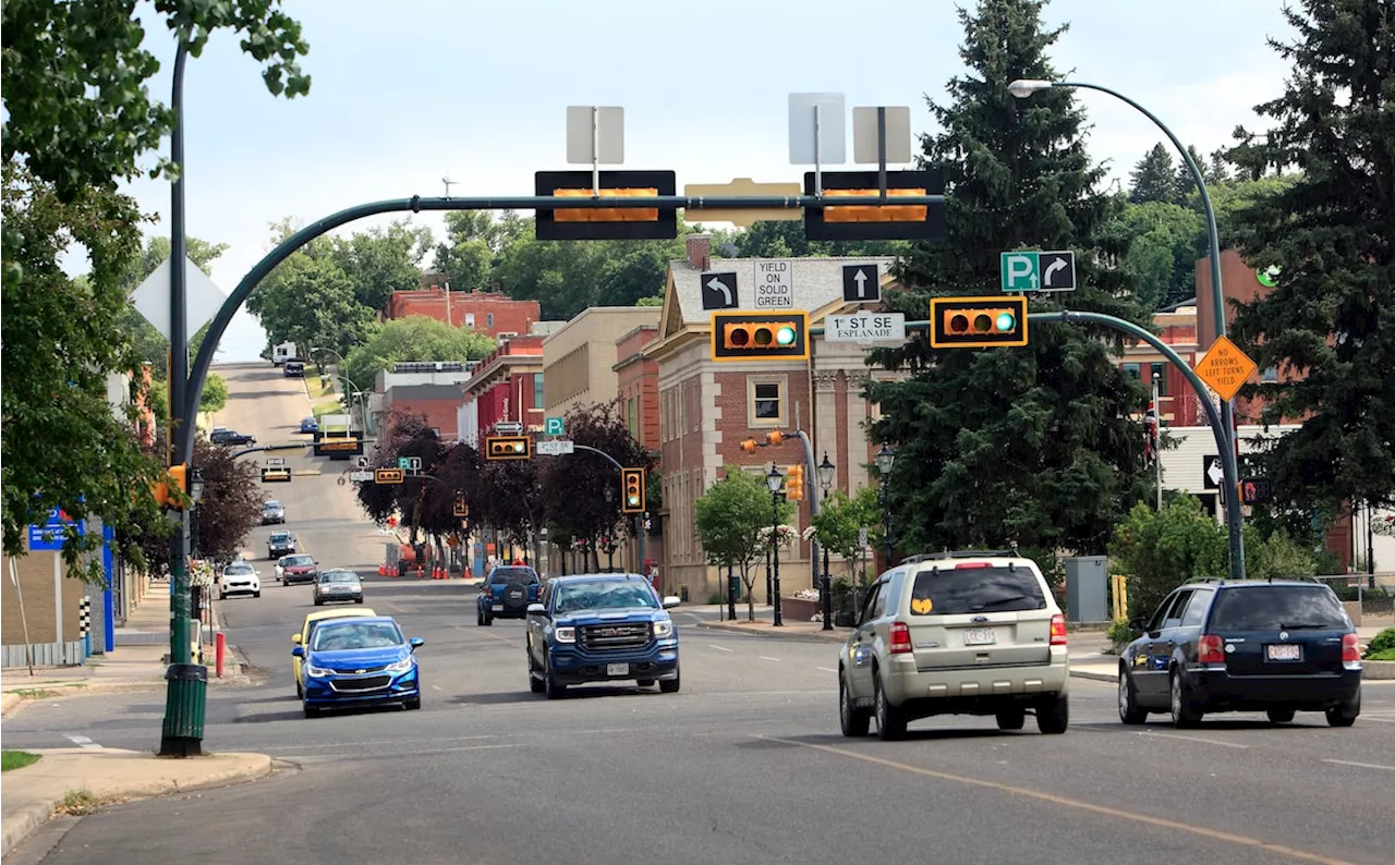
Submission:
[[[1201,209],[1205,213],[1207,220],[1207,244],[1211,258],[1211,314],[1215,319],[1216,338],[1225,336],[1225,294],[1221,286],[1221,234],[1216,230],[1216,213],[1211,206],[1211,193],[1207,191],[1207,180],[1201,174],[1201,166],[1191,158],[1187,152],[1186,145],[1168,128],[1156,114],[1138,105],[1129,96],[1117,91],[1112,91],[1108,86],[1101,86],[1098,84],[1087,84],[1084,81],[1042,81],[1035,78],[1020,78],[1007,85],[1007,89],[1013,96],[1018,99],[1027,99],[1038,91],[1046,91],[1055,86],[1073,86],[1087,91],[1099,91],[1101,93],[1108,93],[1115,99],[1129,105],[1136,109],[1140,114],[1152,120],[1154,126],[1162,130],[1162,134],[1168,137],[1177,153],[1182,155],[1183,165],[1187,166],[1187,172],[1191,174],[1193,183],[1197,184],[1197,193],[1201,195]],[[1240,526],[1240,473],[1239,462],[1240,452],[1236,442],[1236,428],[1235,428],[1235,402],[1229,399],[1221,400],[1221,426],[1222,426],[1222,441],[1226,444],[1222,448],[1221,462],[1225,467],[1226,484],[1223,491],[1225,501],[1225,515],[1226,515],[1226,529],[1229,532],[1230,541],[1230,578],[1244,579],[1244,541],[1242,540],[1242,526]]]

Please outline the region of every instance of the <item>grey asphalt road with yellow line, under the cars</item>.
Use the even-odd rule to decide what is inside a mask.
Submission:
[[[297,508],[339,506],[328,476],[308,481],[290,484],[304,491]],[[292,511],[290,527],[301,518]],[[303,537],[338,564],[361,533]],[[473,589],[374,571],[367,593],[425,639],[421,712],[303,719],[289,636],[312,608],[310,589],[230,600],[233,640],[266,675],[209,692],[205,745],[272,753],[279,772],[112,806],[42,861],[1391,861],[1389,685],[1367,685],[1349,730],[1313,714],[1285,727],[1221,716],[1196,731],[1126,728],[1110,685],[1073,679],[1062,737],[940,719],[904,742],[844,739],[836,643],[711,631],[679,611],[682,692],[547,700],[525,682],[522,624],[477,626]],[[159,692],[35,705],[0,727],[0,746],[61,746],[81,731],[152,748],[162,709]]]

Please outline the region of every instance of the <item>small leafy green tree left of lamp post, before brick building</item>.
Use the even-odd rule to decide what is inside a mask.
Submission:
[[[746,585],[746,618],[756,621],[756,561],[764,557],[760,530],[770,527],[770,490],[764,480],[727,466],[724,477],[707,487],[693,502],[693,529],[707,552],[707,562],[735,568]],[[794,513],[791,502],[780,502],[780,523]]]

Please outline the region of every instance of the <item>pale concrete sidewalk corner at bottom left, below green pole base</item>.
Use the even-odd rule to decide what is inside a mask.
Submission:
[[[0,773],[0,859],[56,813],[103,804],[226,787],[271,774],[264,753],[218,753],[183,760],[116,748],[31,751],[39,760]]]

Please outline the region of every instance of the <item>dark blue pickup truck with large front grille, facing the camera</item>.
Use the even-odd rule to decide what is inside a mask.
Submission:
[[[677,597],[633,573],[554,576],[527,608],[527,681],[557,699],[568,685],[635,681],[678,691]]]

